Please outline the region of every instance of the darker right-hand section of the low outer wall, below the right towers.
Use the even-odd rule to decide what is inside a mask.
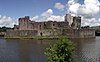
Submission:
[[[94,29],[64,29],[62,35],[68,38],[91,38],[95,37]]]

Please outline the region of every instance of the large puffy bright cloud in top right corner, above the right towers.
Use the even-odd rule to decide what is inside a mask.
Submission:
[[[100,2],[98,0],[84,0],[84,4],[69,0],[67,6],[69,12],[83,15],[86,18],[94,17],[100,11]]]

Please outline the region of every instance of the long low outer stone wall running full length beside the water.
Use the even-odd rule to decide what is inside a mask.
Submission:
[[[42,33],[42,34],[41,34]],[[68,38],[92,38],[95,37],[94,29],[49,29],[49,30],[8,30],[5,37],[36,37],[36,36],[67,36]]]

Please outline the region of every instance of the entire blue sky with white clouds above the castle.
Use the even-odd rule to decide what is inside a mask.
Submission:
[[[64,21],[64,16],[82,17],[82,26],[100,25],[99,0],[0,0],[0,27],[13,27],[18,18],[32,21]]]

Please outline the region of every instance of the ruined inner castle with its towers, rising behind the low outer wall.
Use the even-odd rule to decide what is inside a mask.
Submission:
[[[53,29],[53,28],[69,28],[76,29],[81,26],[81,17],[73,17],[69,14],[65,16],[65,20],[61,22],[57,21],[45,21],[35,22],[31,21],[29,16],[19,18],[19,25],[14,25],[15,30],[41,30],[41,29]]]

